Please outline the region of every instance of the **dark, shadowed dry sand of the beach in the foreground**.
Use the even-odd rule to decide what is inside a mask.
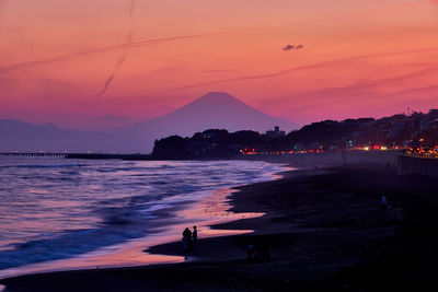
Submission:
[[[255,233],[199,240],[185,264],[23,276],[5,291],[436,291],[438,179],[381,165],[290,172],[240,188],[232,211],[266,212],[217,229]],[[385,195],[393,206],[382,208]],[[201,232],[199,237],[201,237]],[[272,260],[245,261],[268,242]],[[181,243],[149,252],[182,255]]]

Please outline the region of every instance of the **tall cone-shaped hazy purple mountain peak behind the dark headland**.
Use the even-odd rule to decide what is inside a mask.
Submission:
[[[155,139],[171,135],[192,136],[205,129],[265,132],[274,126],[286,132],[297,128],[290,120],[262,113],[227,93],[210,92],[168,115],[125,127],[123,131],[142,137],[143,144],[151,144]]]

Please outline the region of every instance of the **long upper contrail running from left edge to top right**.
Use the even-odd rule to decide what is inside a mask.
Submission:
[[[403,4],[400,4],[396,7],[391,7],[391,8],[392,9],[404,9],[408,4],[424,3],[424,2],[430,2],[430,1],[435,2],[435,0],[413,1],[413,2],[403,3]],[[131,2],[130,8],[134,9],[135,2],[136,2],[135,0]],[[129,14],[131,13],[130,8],[129,8]],[[380,12],[380,11],[387,10],[387,9],[389,9],[389,8],[368,11],[368,12],[361,13],[360,15],[372,14],[372,13],[377,13],[377,12]],[[134,13],[134,10],[132,10],[132,13]],[[357,15],[355,15],[355,17]],[[350,19],[350,17],[353,17],[353,16],[351,15],[335,16],[335,17],[323,19],[323,20],[302,21],[302,22],[297,22],[297,23],[292,23],[292,24],[280,24],[280,25],[272,25],[272,26],[245,28],[245,30],[233,30],[233,31],[221,31],[221,32],[203,33],[203,34],[160,37],[160,38],[132,42],[132,43],[108,45],[108,46],[87,49],[87,50],[82,50],[82,51],[66,54],[66,55],[61,55],[61,56],[57,56],[57,57],[51,57],[51,58],[47,58],[47,59],[41,59],[37,61],[23,61],[23,62],[5,65],[5,66],[0,67],[0,72],[5,73],[8,71],[25,69],[27,67],[43,66],[46,63],[59,62],[59,61],[70,60],[70,59],[74,59],[74,58],[79,58],[79,57],[84,57],[84,56],[101,54],[101,52],[107,52],[107,51],[118,50],[118,49],[135,49],[135,48],[142,48],[146,46],[151,46],[151,45],[158,45],[158,44],[162,44],[162,43],[169,43],[169,42],[177,42],[177,40],[194,39],[194,38],[205,38],[205,37],[211,37],[211,36],[239,34],[239,33],[268,31],[268,30],[281,28],[281,27],[297,27],[297,26],[303,26],[303,25],[309,25],[309,24],[326,23],[326,22],[332,22],[332,21],[336,21],[336,20],[346,20],[346,19]]]

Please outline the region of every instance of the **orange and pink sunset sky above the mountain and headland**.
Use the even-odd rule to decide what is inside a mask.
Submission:
[[[211,91],[299,125],[427,112],[437,32],[438,0],[0,0],[0,118],[108,128]]]

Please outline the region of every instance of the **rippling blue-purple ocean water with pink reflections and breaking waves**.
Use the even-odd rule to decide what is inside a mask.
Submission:
[[[178,236],[172,226],[204,221],[184,210],[215,191],[269,180],[284,170],[253,161],[1,157],[0,276],[36,262],[116,253],[115,246],[139,238],[145,244],[152,235]],[[210,218],[224,215],[208,208]]]

